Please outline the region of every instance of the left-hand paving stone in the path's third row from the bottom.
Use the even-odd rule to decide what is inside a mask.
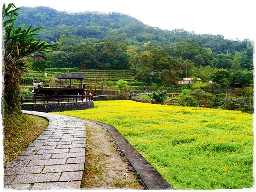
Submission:
[[[40,173],[44,166],[26,166],[26,167],[13,167],[7,170],[5,175],[19,175],[19,174],[32,174]]]

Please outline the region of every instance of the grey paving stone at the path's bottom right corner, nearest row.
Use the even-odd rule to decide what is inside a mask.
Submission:
[[[72,182],[50,182],[35,183],[31,190],[62,190],[62,189],[80,189],[81,181]]]

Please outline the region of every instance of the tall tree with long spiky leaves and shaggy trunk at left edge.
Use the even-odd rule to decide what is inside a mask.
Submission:
[[[23,69],[26,67],[43,69],[48,64],[43,53],[58,49],[58,44],[49,45],[34,38],[34,33],[42,30],[42,27],[24,29],[24,24],[14,28],[18,17],[17,10],[13,3],[2,8],[2,26],[4,31],[4,114],[20,114],[20,80]],[[34,61],[30,58],[34,58]]]

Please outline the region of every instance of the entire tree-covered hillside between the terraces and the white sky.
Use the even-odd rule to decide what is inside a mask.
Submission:
[[[62,42],[61,51],[47,55],[52,67],[128,69],[138,81],[158,86],[184,77],[204,82],[215,78],[224,87],[245,78],[246,84],[252,83],[253,47],[248,39],[161,30],[116,12],[68,13],[38,6],[22,7],[18,13],[17,26],[44,26],[40,41]],[[220,75],[223,70],[225,75]]]

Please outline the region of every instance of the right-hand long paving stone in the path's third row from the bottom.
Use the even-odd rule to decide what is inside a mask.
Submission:
[[[84,170],[83,163],[76,163],[76,164],[62,164],[62,165],[51,165],[45,166],[42,173],[48,172],[65,172],[65,171],[81,171]]]

